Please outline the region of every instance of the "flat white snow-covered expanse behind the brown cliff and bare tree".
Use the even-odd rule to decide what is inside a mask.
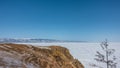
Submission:
[[[106,65],[94,60],[96,51],[102,51],[100,43],[22,43],[34,46],[63,46],[70,50],[74,58],[78,59],[85,68],[106,68]],[[109,43],[109,48],[115,49],[117,68],[120,68],[120,43]]]

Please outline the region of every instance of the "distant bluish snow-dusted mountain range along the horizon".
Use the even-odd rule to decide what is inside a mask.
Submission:
[[[13,38],[0,38],[0,43],[41,43],[41,42],[85,42],[85,41],[64,41],[55,39],[13,39]]]

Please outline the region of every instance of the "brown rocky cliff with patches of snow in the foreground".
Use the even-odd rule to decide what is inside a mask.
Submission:
[[[84,68],[60,46],[0,44],[0,68]]]

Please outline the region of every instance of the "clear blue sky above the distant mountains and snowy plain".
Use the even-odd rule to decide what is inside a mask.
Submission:
[[[0,0],[0,38],[120,42],[120,0]]]

